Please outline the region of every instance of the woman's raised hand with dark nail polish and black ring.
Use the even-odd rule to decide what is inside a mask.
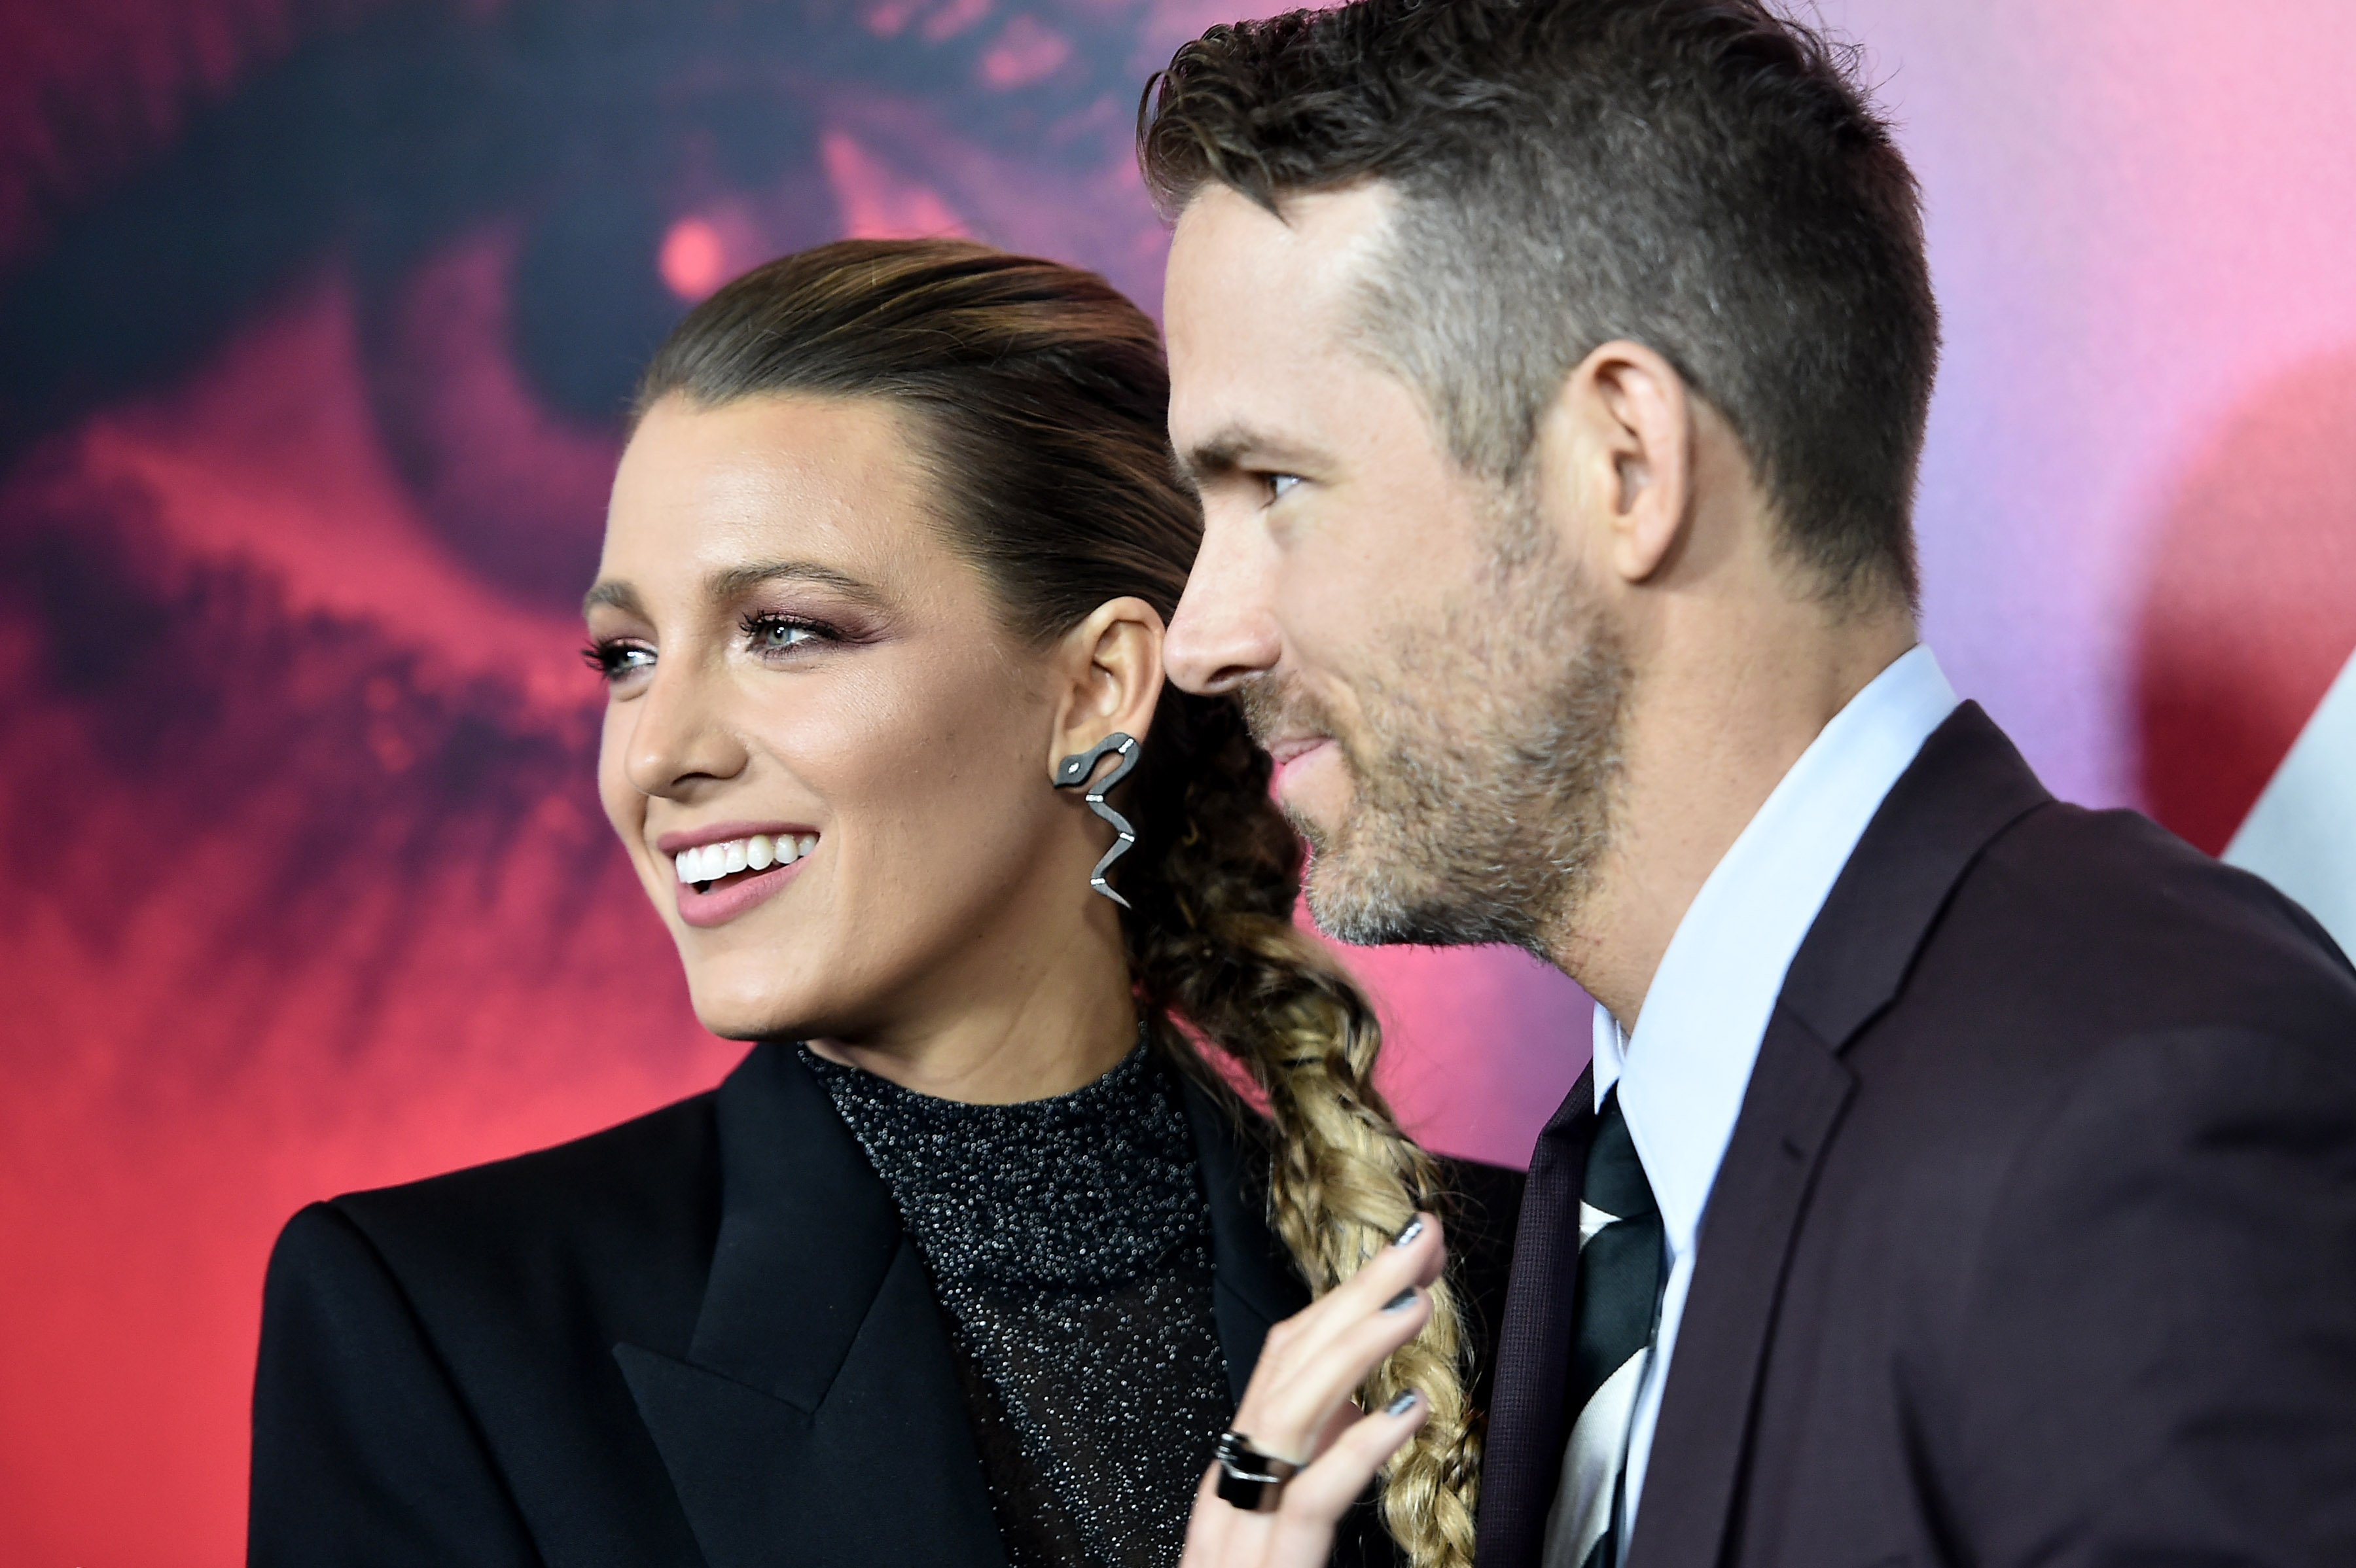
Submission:
[[[1428,1408],[1414,1391],[1371,1415],[1352,1394],[1432,1316],[1425,1288],[1447,1260],[1440,1220],[1416,1215],[1350,1281],[1268,1330],[1235,1431],[1301,1474],[1272,1509],[1246,1514],[1218,1495],[1211,1464],[1194,1490],[1180,1568],[1324,1568],[1341,1516],[1423,1424]]]

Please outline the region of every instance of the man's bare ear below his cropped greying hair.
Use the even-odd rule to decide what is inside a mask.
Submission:
[[[1685,377],[1644,344],[1614,339],[1562,381],[1538,428],[1555,506],[1581,558],[1644,582],[1685,539],[1694,501],[1694,407]],[[1560,513],[1557,513],[1560,516]],[[1567,523],[1571,518],[1564,518]]]

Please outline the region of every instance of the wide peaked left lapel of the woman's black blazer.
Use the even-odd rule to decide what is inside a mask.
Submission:
[[[686,1358],[615,1361],[714,1568],[1004,1563],[924,1260],[789,1050],[721,1085],[721,1229]]]

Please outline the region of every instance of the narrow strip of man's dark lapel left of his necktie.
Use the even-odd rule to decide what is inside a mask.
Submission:
[[[1569,1413],[1571,1302],[1579,1276],[1579,1194],[1595,1142],[1595,1067],[1562,1097],[1538,1132],[1513,1236],[1505,1321],[1498,1328],[1496,1394],[1482,1457],[1480,1568],[1524,1568],[1546,1542],[1546,1511],[1562,1474]]]

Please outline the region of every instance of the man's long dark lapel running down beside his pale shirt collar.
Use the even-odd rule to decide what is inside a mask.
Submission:
[[[1783,977],[1710,1189],[1628,1568],[1722,1561],[1791,1245],[1857,1088],[1840,1052],[1899,994],[1972,859],[2050,800],[1967,702],[1922,744],[1833,883]]]

